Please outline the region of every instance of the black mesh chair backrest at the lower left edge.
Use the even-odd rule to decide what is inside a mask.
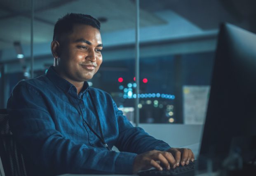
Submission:
[[[0,109],[0,157],[5,176],[27,176],[23,156],[9,127],[6,109]]]

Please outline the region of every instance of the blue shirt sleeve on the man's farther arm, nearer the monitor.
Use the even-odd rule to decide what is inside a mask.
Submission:
[[[118,110],[114,101],[113,105],[119,127],[119,137],[116,147],[120,151],[140,154],[151,150],[167,151],[171,148],[166,142],[155,139],[142,128],[133,127],[127,117],[123,115],[122,111]]]

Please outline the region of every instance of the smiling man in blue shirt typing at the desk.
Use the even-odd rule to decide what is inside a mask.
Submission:
[[[28,175],[132,174],[194,160],[190,149],[171,148],[133,127],[108,93],[88,86],[102,62],[99,30],[89,15],[59,19],[54,66],[12,91],[7,110]],[[111,151],[114,145],[120,152]]]

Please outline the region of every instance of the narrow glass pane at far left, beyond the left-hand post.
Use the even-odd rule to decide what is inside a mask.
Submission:
[[[30,77],[31,2],[0,2],[0,108],[14,85]]]

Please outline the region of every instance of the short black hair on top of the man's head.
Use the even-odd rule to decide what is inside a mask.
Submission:
[[[68,13],[54,25],[53,40],[59,40],[63,33],[72,33],[75,24],[84,24],[100,30],[101,23],[90,15]]]

